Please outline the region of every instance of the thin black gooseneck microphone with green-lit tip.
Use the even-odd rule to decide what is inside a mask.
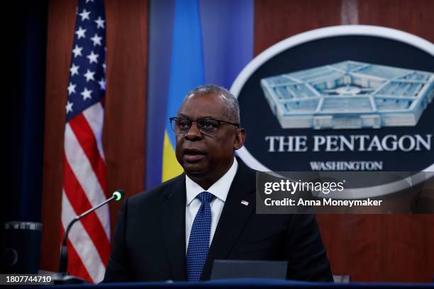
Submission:
[[[99,205],[96,205],[93,208],[90,208],[86,212],[83,212],[82,214],[74,217],[74,219],[69,222],[67,229],[65,230],[65,234],[63,235],[62,240],[62,247],[60,249],[60,264],[59,264],[59,273],[55,273],[55,276],[53,276],[55,284],[65,284],[65,283],[87,283],[86,280],[83,280],[82,278],[74,277],[68,275],[68,234],[69,231],[72,228],[72,225],[74,225],[77,221],[82,219],[82,217],[89,215],[89,213],[93,212],[94,210],[101,208],[103,205],[106,205],[107,203],[111,202],[112,200],[121,200],[123,196],[125,195],[125,192],[123,190],[116,190],[113,193],[113,196],[108,198],[107,200],[104,200],[104,202],[100,203]]]

